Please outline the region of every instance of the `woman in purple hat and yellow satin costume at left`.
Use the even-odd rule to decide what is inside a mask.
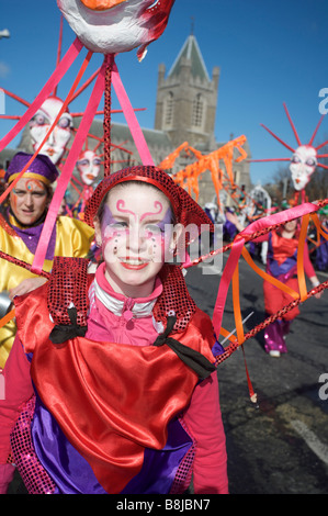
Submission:
[[[31,157],[30,154],[18,153],[12,158],[5,172],[7,184],[16,178]],[[53,195],[52,184],[57,177],[58,171],[49,158],[38,155],[19,179],[9,194],[8,202],[1,206],[0,235],[3,253],[30,265],[33,262]],[[86,256],[92,238],[93,231],[87,224],[67,216],[58,216],[44,270],[50,270],[54,256]],[[29,291],[31,279],[36,278],[35,274],[4,259],[0,259],[0,263],[1,293],[9,293],[9,298],[13,298]],[[0,368],[4,367],[14,334],[13,319],[0,328]]]

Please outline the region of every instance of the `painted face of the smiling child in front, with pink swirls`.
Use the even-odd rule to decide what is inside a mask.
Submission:
[[[113,189],[104,206],[100,233],[106,273],[123,292],[154,283],[170,238],[169,201],[154,188],[129,184]]]

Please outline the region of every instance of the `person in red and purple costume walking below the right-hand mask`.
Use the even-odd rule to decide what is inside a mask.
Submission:
[[[272,231],[253,242],[269,242],[267,256],[267,272],[279,281],[298,292],[297,279],[297,249],[299,240],[299,225],[297,220],[286,222],[280,229]],[[320,282],[309,260],[308,247],[304,246],[304,271],[313,288]],[[275,314],[292,301],[286,292],[273,285],[269,281],[263,282],[264,307],[268,315]],[[316,294],[320,298],[321,293]],[[280,357],[287,352],[285,336],[290,332],[291,322],[299,314],[298,306],[286,312],[282,318],[276,319],[267,327],[264,333],[264,349],[272,357]]]

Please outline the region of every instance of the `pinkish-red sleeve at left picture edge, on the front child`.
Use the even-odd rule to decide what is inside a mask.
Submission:
[[[1,371],[1,370],[0,370]],[[13,468],[7,464],[10,456],[10,434],[20,415],[22,405],[32,396],[30,362],[16,337],[4,369],[1,372],[0,395],[0,493],[5,493],[13,475]]]

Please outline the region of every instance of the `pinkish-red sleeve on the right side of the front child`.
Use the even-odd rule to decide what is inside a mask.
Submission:
[[[219,407],[217,372],[200,383],[183,415],[196,440],[195,494],[228,494],[226,437]]]

